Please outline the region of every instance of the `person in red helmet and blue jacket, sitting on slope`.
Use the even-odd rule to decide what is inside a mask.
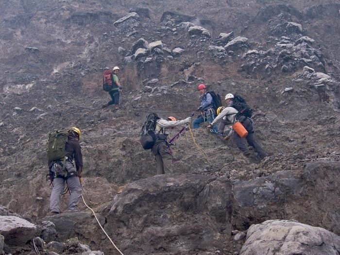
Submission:
[[[201,115],[192,123],[193,128],[199,128],[203,122],[211,123],[214,120],[215,113],[213,98],[206,92],[206,86],[204,84],[198,85],[198,92],[201,94],[201,106],[198,107],[197,111],[201,112]],[[215,125],[213,129],[217,130],[217,126]]]

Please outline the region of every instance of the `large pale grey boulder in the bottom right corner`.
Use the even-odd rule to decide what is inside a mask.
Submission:
[[[270,220],[252,225],[240,255],[337,255],[340,237],[297,221]]]

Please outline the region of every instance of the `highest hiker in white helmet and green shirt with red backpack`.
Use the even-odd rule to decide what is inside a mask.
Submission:
[[[105,83],[109,83],[109,84],[111,83],[109,86],[110,89],[105,89],[105,91],[109,92],[111,96],[111,101],[103,104],[102,108],[105,108],[111,104],[114,104],[116,106],[116,109],[119,107],[118,106],[119,96],[120,96],[120,90],[122,89],[122,86],[120,85],[118,74],[119,74],[119,67],[114,67],[111,73],[110,73],[110,70],[104,71],[103,84],[105,85]]]

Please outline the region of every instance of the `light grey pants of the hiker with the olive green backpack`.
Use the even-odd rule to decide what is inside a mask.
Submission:
[[[73,164],[69,161],[66,161],[65,168],[71,172],[76,171]],[[63,170],[61,174],[67,175],[67,171]],[[79,203],[79,199],[82,195],[82,187],[79,181],[78,176],[73,176],[68,179],[64,178],[54,178],[53,180],[53,188],[50,197],[50,211],[60,213],[60,198],[63,194],[65,189],[65,182],[69,188],[69,199],[68,199],[68,210],[69,211],[76,211],[77,205]]]

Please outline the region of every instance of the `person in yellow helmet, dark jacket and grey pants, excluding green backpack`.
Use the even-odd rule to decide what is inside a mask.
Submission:
[[[68,138],[65,144],[66,157],[51,163],[50,171],[55,172],[53,189],[50,197],[51,214],[60,213],[60,198],[65,188],[65,182],[70,192],[68,211],[77,211],[77,206],[82,195],[82,168],[83,155],[79,140],[81,131],[77,127],[68,129]]]

